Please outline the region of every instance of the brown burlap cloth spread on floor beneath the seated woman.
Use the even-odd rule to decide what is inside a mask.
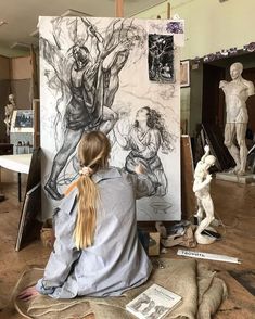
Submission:
[[[194,259],[162,258],[161,261],[163,269],[154,269],[145,284],[120,297],[78,297],[66,301],[39,295],[25,303],[16,295],[24,288],[35,284],[43,273],[43,269],[28,269],[14,289],[14,306],[25,318],[81,319],[94,314],[97,319],[131,319],[133,317],[125,311],[125,305],[155,282],[182,296],[182,303],[166,318],[211,318],[227,296],[225,282]]]

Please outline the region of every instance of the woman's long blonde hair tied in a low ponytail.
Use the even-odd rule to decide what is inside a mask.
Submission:
[[[99,193],[92,175],[107,166],[110,154],[110,142],[101,131],[85,133],[78,146],[78,160],[81,173],[77,181],[78,188],[78,214],[74,231],[75,244],[78,250],[89,247],[93,244],[97,226],[97,203]],[[82,169],[81,169],[82,171]]]

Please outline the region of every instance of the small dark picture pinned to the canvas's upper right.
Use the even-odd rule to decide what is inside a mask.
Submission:
[[[149,78],[152,81],[174,81],[173,36],[149,35]]]

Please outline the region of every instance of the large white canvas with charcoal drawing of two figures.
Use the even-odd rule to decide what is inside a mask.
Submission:
[[[140,220],[178,220],[179,39],[167,20],[40,17],[42,213],[59,205],[79,170],[84,131],[102,130],[111,165],[140,163],[154,184]]]

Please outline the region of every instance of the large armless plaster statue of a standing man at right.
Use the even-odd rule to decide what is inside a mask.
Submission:
[[[230,66],[231,81],[221,80],[219,88],[224,90],[226,98],[226,126],[225,145],[235,162],[233,173],[244,175],[247,160],[245,135],[247,128],[246,100],[253,95],[254,85],[242,77],[243,65],[239,62]],[[237,138],[238,145],[234,144]]]

